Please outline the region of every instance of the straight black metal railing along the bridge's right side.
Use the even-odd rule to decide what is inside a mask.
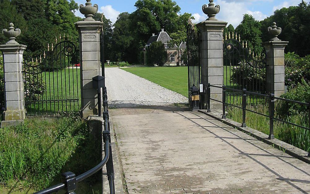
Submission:
[[[211,97],[211,87],[213,88],[222,88],[222,95],[223,95],[223,99],[222,101],[219,101],[219,100],[216,100],[214,98]],[[241,100],[241,106],[240,104],[236,103],[236,104],[233,104],[233,103],[228,103],[226,101],[227,97],[226,97],[226,92],[227,90],[231,90],[233,92],[239,92],[241,93],[241,96],[242,96],[242,100]],[[248,104],[247,104],[247,100],[248,100],[248,96],[249,95],[254,95],[254,96],[258,96],[260,98],[266,98],[267,99],[267,105],[268,105],[268,112],[269,112],[269,115],[266,115],[266,114],[263,114],[263,113],[259,113],[255,110],[250,110],[247,108]],[[241,124],[241,127],[244,128],[244,127],[247,127],[246,125],[246,111],[249,111],[249,112],[252,112],[252,113],[255,113],[255,114],[258,114],[258,115],[261,115],[261,116],[265,116],[265,117],[268,117],[269,118],[269,137],[268,139],[274,139],[274,133],[273,133],[273,130],[274,130],[274,121],[277,120],[279,122],[282,122],[282,123],[285,123],[285,124],[290,124],[292,126],[295,126],[295,127],[299,127],[301,129],[306,129],[306,130],[309,130],[310,131],[310,103],[305,103],[305,102],[299,102],[299,101],[294,101],[294,100],[289,100],[289,99],[285,99],[285,98],[279,98],[279,97],[275,97],[274,94],[269,94],[269,95],[265,95],[265,94],[260,94],[260,93],[256,93],[256,92],[248,92],[246,89],[243,89],[243,90],[237,90],[237,89],[233,89],[233,88],[227,88],[226,86],[215,86],[215,85],[211,85],[210,83],[208,84],[208,89],[207,89],[207,96],[208,96],[208,112],[211,111],[211,108],[210,108],[210,101],[213,100],[215,102],[220,102],[222,103],[223,105],[223,116],[222,116],[222,119],[226,119],[226,107],[227,106],[232,106],[232,107],[236,107],[236,108],[240,108],[242,109],[242,124]],[[286,121],[286,120],[283,120],[283,119],[280,119],[280,118],[276,118],[275,117],[275,102],[276,100],[280,100],[280,101],[285,101],[285,102],[291,102],[291,103],[296,103],[296,104],[299,104],[301,106],[307,106],[308,107],[308,111],[309,111],[309,120],[308,120],[308,127],[305,127],[305,126],[301,126],[299,124],[295,124],[295,123],[291,123],[289,121]],[[308,156],[310,156],[310,152],[308,152]]]

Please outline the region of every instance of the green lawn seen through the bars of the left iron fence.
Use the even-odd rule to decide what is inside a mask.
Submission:
[[[56,72],[43,72],[42,81],[45,82],[46,89],[43,95],[40,95],[40,102],[28,104],[28,115],[37,114],[55,114],[59,111],[77,111],[81,105],[80,92],[80,69],[64,69]],[[65,99],[72,99],[65,101]],[[49,100],[59,100],[58,102],[49,102]]]

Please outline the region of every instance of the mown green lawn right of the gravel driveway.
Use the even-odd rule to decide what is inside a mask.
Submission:
[[[123,70],[188,97],[188,67],[130,67]],[[226,68],[224,71],[226,84]]]

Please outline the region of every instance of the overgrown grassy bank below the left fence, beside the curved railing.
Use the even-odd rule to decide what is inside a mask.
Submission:
[[[101,142],[94,143],[86,123],[74,115],[1,128],[0,186],[38,190],[60,183],[63,172],[79,175],[97,165]],[[98,178],[97,174],[86,181],[94,185]]]

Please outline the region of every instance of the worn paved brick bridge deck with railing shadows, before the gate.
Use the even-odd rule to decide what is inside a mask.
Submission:
[[[310,192],[310,165],[202,113],[110,113],[129,193]]]

